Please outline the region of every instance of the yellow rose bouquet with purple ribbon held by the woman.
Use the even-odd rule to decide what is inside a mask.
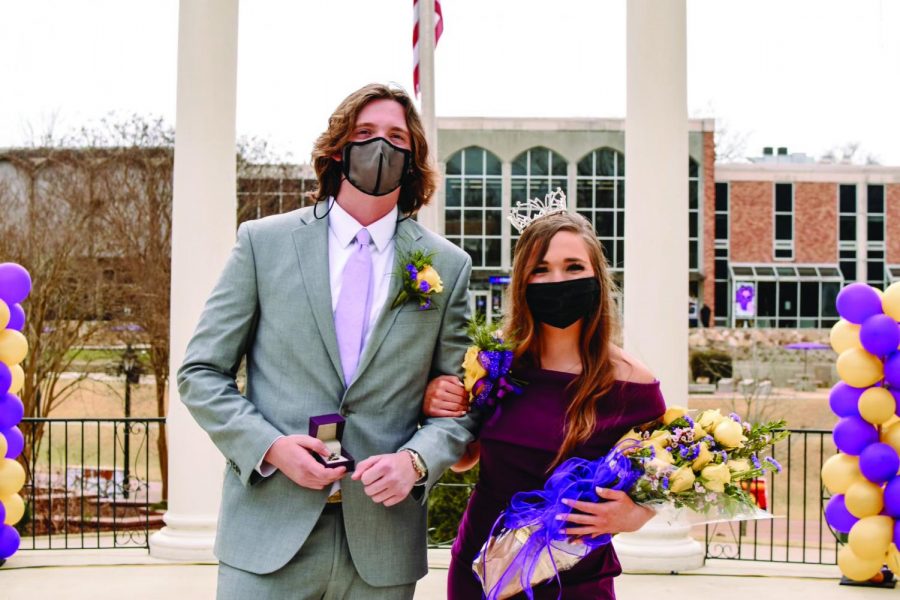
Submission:
[[[560,571],[608,544],[608,534],[572,543],[563,533],[567,522],[557,519],[572,510],[564,499],[601,501],[598,487],[623,490],[639,504],[673,510],[694,524],[769,517],[741,483],[781,470],[775,459],[760,460],[759,454],[788,435],[784,428],[784,421],[751,425],[719,410],[692,419],[675,407],[660,421],[629,431],[598,460],[567,460],[543,490],[515,494],[494,524],[472,565],[486,597],[524,591],[533,598],[535,585],[558,581]]]

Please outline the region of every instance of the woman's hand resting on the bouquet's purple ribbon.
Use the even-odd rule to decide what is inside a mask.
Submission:
[[[656,514],[646,506],[638,506],[628,494],[620,490],[598,487],[597,495],[606,502],[577,502],[563,499],[563,504],[571,506],[573,512],[568,515],[557,515],[556,518],[574,525],[563,530],[563,533],[595,537],[604,533],[637,531]]]

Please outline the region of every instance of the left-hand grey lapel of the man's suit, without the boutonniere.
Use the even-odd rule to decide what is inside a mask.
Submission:
[[[309,298],[313,318],[331,364],[340,380],[344,380],[341,369],[337,334],[334,330],[334,312],[331,309],[331,278],[328,271],[328,219],[316,219],[312,213],[303,216],[304,225],[292,232],[303,289]]]

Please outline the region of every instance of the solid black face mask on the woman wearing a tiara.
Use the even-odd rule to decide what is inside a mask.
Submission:
[[[536,322],[565,329],[596,310],[600,304],[600,283],[594,277],[529,283],[525,300]]]

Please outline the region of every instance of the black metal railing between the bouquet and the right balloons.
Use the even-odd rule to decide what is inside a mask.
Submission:
[[[838,540],[825,522],[828,496],[820,477],[825,459],[837,452],[831,430],[789,431],[770,454],[782,472],[750,489],[772,518],[705,526],[707,558],[837,564]]]

